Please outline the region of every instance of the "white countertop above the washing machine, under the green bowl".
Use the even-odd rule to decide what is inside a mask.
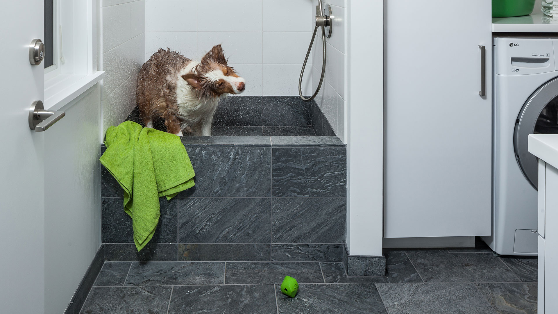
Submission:
[[[533,12],[534,13],[534,12]],[[493,17],[493,32],[558,32],[558,20],[545,17],[542,12],[518,17]]]

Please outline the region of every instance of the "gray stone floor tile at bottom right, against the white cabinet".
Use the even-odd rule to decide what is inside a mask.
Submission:
[[[536,283],[477,283],[490,305],[501,314],[537,314]]]

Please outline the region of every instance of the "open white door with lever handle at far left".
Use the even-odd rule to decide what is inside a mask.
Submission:
[[[44,66],[28,50],[43,37],[41,0],[3,1],[0,10],[0,305],[2,313],[44,312],[44,135],[28,126],[44,100]]]

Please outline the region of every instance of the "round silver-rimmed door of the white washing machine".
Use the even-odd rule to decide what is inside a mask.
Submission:
[[[558,134],[558,78],[541,85],[523,104],[513,135],[519,168],[538,190],[538,159],[527,150],[529,134]]]

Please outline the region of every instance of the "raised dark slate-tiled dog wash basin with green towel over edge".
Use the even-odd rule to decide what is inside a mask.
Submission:
[[[212,134],[182,137],[196,185],[160,199],[157,231],[140,253],[122,189],[102,170],[106,260],[342,260],[347,150],[314,102],[228,97]]]

